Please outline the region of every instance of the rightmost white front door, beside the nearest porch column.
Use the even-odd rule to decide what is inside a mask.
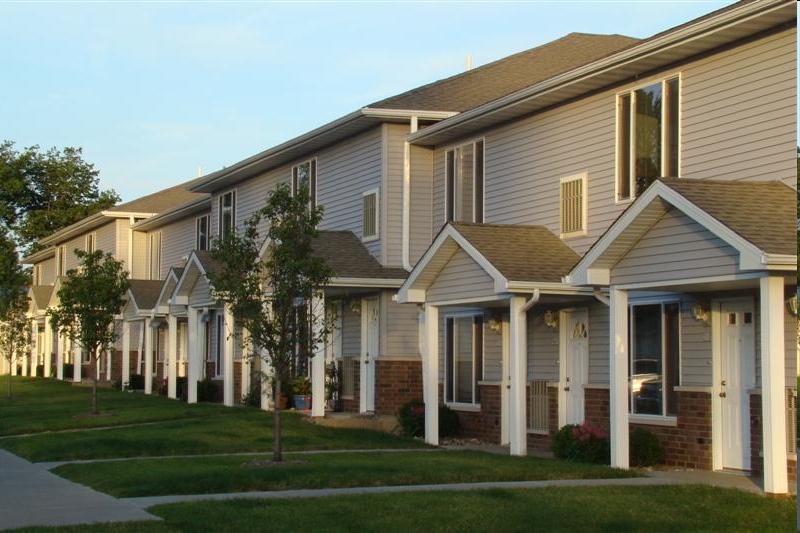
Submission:
[[[750,397],[754,386],[753,304],[720,304],[720,373],[717,401],[721,422],[722,467],[750,470]]]

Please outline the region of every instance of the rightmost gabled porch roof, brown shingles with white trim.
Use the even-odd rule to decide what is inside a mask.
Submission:
[[[671,208],[731,246],[740,270],[795,270],[796,194],[778,181],[656,180],[595,242],[569,281],[608,285],[614,265]]]

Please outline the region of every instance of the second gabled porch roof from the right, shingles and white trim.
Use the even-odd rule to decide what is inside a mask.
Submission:
[[[459,249],[492,279],[495,293],[574,291],[562,278],[580,257],[546,227],[449,223],[411,271],[398,299],[425,301],[425,291]]]

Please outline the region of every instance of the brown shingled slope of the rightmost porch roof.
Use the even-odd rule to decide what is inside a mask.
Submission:
[[[797,253],[797,191],[779,181],[663,178],[671,189],[760,250]]]

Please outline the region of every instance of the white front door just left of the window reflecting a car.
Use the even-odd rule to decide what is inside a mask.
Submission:
[[[584,421],[584,386],[589,381],[589,313],[574,309],[561,313],[561,394],[559,426]]]

